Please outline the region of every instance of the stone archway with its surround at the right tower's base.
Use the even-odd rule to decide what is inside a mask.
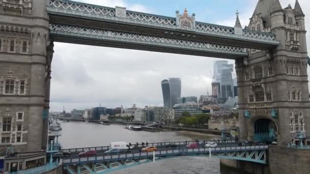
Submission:
[[[276,121],[265,116],[253,117],[249,121],[249,140],[256,142],[274,141],[277,139],[278,126]]]

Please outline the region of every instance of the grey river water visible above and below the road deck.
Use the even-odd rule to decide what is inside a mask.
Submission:
[[[138,142],[167,142],[184,140],[211,140],[219,136],[187,131],[146,132],[124,129],[121,125],[102,126],[85,122],[62,122],[59,141],[64,149],[82,147],[109,146],[113,141]],[[239,174],[220,165],[218,158],[207,157],[176,157],[146,163],[113,173],[125,174],[158,174],[158,173],[193,173],[193,174]]]

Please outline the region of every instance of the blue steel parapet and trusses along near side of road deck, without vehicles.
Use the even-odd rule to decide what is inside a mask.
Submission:
[[[251,161],[256,163],[267,164],[267,150],[268,146],[241,146],[241,147],[216,147],[216,148],[186,148],[179,147],[169,150],[157,150],[155,152],[156,160],[172,158],[177,156],[209,156],[210,151],[212,157],[236,159],[243,161]],[[141,162],[149,162],[153,158],[153,152],[137,152],[137,153],[123,153],[115,155],[102,155],[92,157],[77,157],[72,156],[62,159],[65,168],[68,168],[70,173],[79,173],[81,168],[88,171],[96,170],[96,173],[108,173],[122,168],[141,164]],[[146,160],[146,161],[144,161]],[[95,164],[93,167],[85,166],[86,164]],[[101,168],[96,168],[97,164]],[[128,166],[126,166],[128,165]],[[76,166],[78,166],[76,168]],[[118,166],[118,167],[117,167]],[[75,170],[74,170],[75,167]],[[96,168],[96,169],[95,169]],[[103,170],[102,172],[99,170]]]

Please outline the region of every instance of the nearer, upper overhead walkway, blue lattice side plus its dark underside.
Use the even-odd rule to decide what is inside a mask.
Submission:
[[[231,45],[242,45],[247,48],[270,49],[279,45],[279,42],[276,41],[276,36],[273,33],[243,30],[242,35],[238,35],[235,34],[234,27],[197,21],[194,21],[191,28],[182,28],[179,26],[177,18],[175,17],[160,16],[128,10],[125,11],[125,14],[119,16],[116,11],[116,8],[96,6],[68,0],[50,0],[49,5],[47,6],[47,12],[50,16],[50,22],[52,23],[59,21],[63,21],[64,23],[75,21],[75,24],[79,23],[85,26],[87,25],[86,23],[94,21],[95,23],[91,25],[94,27],[94,25],[98,24],[98,22],[109,22],[110,24],[122,24],[122,26],[131,25],[144,28],[144,31],[146,28],[154,28],[154,30],[156,29],[157,31],[163,31],[160,33],[172,32],[174,33],[174,36],[180,32],[182,33],[181,35],[184,36],[195,35],[199,36],[199,38],[208,36],[209,39],[211,38],[210,40],[220,38],[221,41],[214,40],[213,43],[220,44],[227,43],[227,41],[229,41]],[[176,14],[176,16],[178,15],[179,14]],[[88,22],[81,23],[82,20]],[[73,25],[73,23],[71,24]],[[124,27],[122,27],[122,29],[124,29]]]

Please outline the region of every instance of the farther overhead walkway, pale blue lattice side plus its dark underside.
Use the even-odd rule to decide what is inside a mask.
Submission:
[[[125,46],[129,49],[145,49],[161,52],[170,51],[173,53],[182,53],[183,50],[185,54],[225,57],[230,59],[246,57],[248,55],[246,49],[241,47],[114,32],[64,24],[49,24],[49,34],[55,41],[66,42],[69,38],[73,40],[76,39],[76,43],[81,43],[77,40],[90,41],[89,44],[94,44],[95,41],[102,41],[98,43],[99,46],[111,46],[115,43],[113,47]]]

